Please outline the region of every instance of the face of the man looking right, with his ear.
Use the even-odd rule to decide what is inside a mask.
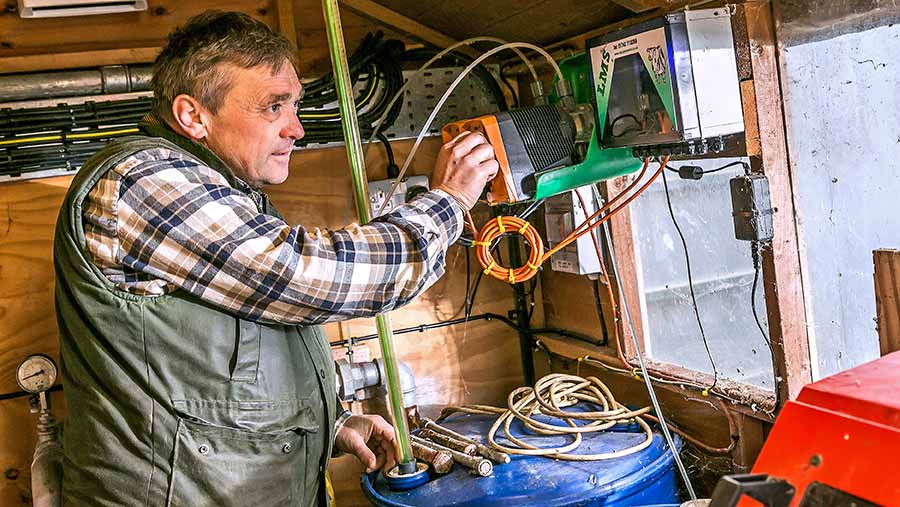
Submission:
[[[288,176],[294,141],[303,137],[297,118],[302,87],[293,65],[228,66],[231,89],[209,115],[207,146],[253,187],[277,185]]]

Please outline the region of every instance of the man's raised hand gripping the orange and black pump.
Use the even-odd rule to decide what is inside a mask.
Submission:
[[[478,132],[462,132],[441,147],[432,187],[452,195],[468,211],[499,169],[494,148],[487,139]]]

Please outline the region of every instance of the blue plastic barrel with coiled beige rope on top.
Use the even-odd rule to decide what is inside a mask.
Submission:
[[[457,415],[444,425],[481,439],[495,416]],[[528,435],[520,423],[512,426],[516,436]],[[502,434],[501,429],[499,433]],[[623,449],[641,442],[636,426],[588,433],[579,454]],[[677,438],[677,437],[676,437]],[[533,441],[533,440],[532,440]],[[500,442],[504,442],[500,439]],[[546,437],[541,447],[563,445],[570,437]],[[676,440],[680,447],[680,440]],[[641,452],[601,461],[562,461],[542,457],[513,456],[506,465],[494,465],[490,477],[475,477],[456,464],[444,476],[433,476],[427,484],[403,492],[391,491],[385,478],[375,472],[362,477],[362,488],[375,505],[382,507],[635,507],[678,504],[672,452],[662,435],[655,434],[650,447]]]

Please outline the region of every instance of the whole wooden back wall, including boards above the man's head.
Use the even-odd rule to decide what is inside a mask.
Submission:
[[[151,61],[165,34],[208,8],[240,10],[286,31],[294,28],[301,55],[301,77],[330,69],[320,3],[302,0],[150,0],[146,12],[23,20],[12,9],[0,11],[0,73],[74,68]],[[348,11],[342,13],[347,46],[381,27]],[[385,30],[388,36],[397,34]],[[409,149],[397,142],[398,158]],[[412,167],[429,174],[439,144],[423,144]],[[383,150],[370,153],[370,179],[384,178]],[[402,160],[402,159],[401,159]],[[14,369],[24,357],[46,353],[58,357],[53,309],[52,234],[69,177],[0,183],[0,393],[17,391]],[[292,158],[288,181],[267,189],[293,223],[341,227],[356,220],[343,147],[303,150]],[[473,266],[475,261],[473,258]],[[408,307],[392,313],[395,328],[459,317],[465,293],[465,255],[452,247],[447,275]],[[513,306],[510,288],[495,280],[482,282],[474,313],[505,314]],[[535,318],[540,322],[541,311]],[[374,332],[374,321],[329,325],[329,338]],[[434,415],[450,403],[501,403],[522,381],[518,337],[497,322],[472,322],[397,338],[400,359],[416,373],[422,411]],[[376,341],[367,354],[378,357]],[[338,351],[338,355],[341,351]],[[359,355],[357,356],[359,358]],[[503,365],[498,368],[498,365]],[[57,414],[65,413],[63,397],[53,395]],[[358,407],[357,407],[358,409]],[[25,399],[0,401],[0,505],[30,504],[30,456],[34,416]],[[336,460],[332,473],[338,505],[366,505],[359,493],[357,465]]]

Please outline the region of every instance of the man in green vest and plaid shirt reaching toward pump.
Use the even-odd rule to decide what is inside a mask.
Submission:
[[[293,58],[248,16],[193,18],[156,60],[141,135],[73,180],[54,244],[65,505],[315,505],[333,449],[392,458],[383,419],[341,413],[317,325],[434,283],[497,162],[463,134],[391,214],[291,227],[259,188],[303,137]]]

